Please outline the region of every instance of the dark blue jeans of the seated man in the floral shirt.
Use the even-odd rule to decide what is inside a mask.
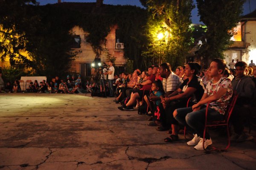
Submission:
[[[194,111],[194,112],[192,110],[192,107],[180,108],[180,109],[177,109],[177,115],[175,116],[175,119],[181,125],[190,127],[193,130],[193,133],[197,134],[202,138],[204,135],[205,112],[206,112],[205,105],[202,105],[200,110]],[[215,111],[212,108],[208,108],[207,120],[219,121],[223,119],[224,119],[224,115]],[[205,138],[210,139],[208,132],[205,133]]]

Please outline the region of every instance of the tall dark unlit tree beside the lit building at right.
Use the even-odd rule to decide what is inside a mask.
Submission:
[[[222,58],[233,43],[230,38],[242,14],[245,0],[197,0],[200,20],[207,26],[199,55],[208,59]],[[206,65],[207,66],[207,65]]]

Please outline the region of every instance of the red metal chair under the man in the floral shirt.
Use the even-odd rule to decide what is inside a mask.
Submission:
[[[227,110],[224,114],[225,119],[223,121],[213,121],[213,122],[207,121],[207,113],[208,113],[208,108],[209,108],[210,102],[207,104],[207,109],[206,109],[206,113],[205,113],[203,148],[204,148],[204,142],[205,142],[204,139],[205,139],[205,133],[206,133],[207,127],[216,127],[216,126],[226,126],[227,127],[228,144],[225,149],[221,149],[221,148],[217,148],[217,147],[212,147],[212,149],[222,151],[222,150],[227,150],[230,147],[229,120],[230,120],[230,116],[232,114],[233,108],[236,104],[237,97],[238,97],[238,94],[235,93],[235,95],[231,98],[231,102],[228,103]],[[205,150],[205,148],[204,148],[204,150]]]

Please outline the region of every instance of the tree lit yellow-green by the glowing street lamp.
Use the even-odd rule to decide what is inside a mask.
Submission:
[[[179,3],[177,3],[179,2]],[[172,67],[183,65],[193,39],[191,11],[192,0],[147,0],[149,38],[145,55],[153,58],[153,64],[169,62]],[[163,38],[159,38],[159,34]]]

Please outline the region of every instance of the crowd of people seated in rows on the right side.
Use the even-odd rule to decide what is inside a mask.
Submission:
[[[235,69],[228,69],[222,59],[213,59],[206,70],[197,62],[189,62],[175,70],[169,63],[150,66],[147,71],[136,69],[132,75],[123,73],[116,78],[116,99],[121,111],[134,111],[149,116],[148,126],[170,134],[165,142],[178,141],[179,130],[187,127],[193,139],[187,144],[204,150],[212,139],[208,132],[204,139],[206,105],[209,121],[224,120],[227,105],[233,95],[238,100],[231,115],[233,125],[231,140],[242,142],[253,137],[244,133],[248,114],[244,110],[256,105],[256,67],[236,62]],[[187,102],[189,100],[189,107]]]

